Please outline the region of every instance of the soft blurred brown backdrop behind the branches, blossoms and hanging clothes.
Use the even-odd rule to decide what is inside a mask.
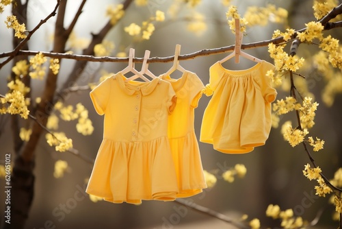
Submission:
[[[196,9],[181,9],[179,19],[172,20],[168,16],[168,8],[172,1],[150,0],[145,7],[139,7],[134,3],[127,10],[120,23],[109,32],[105,40],[111,40],[116,45],[113,56],[119,51],[127,51],[127,47],[135,48],[135,56],[144,56],[146,49],[150,50],[150,56],[172,56],[176,44],[181,45],[181,54],[193,53],[200,49],[211,49],[234,44],[234,36],[226,22],[226,11],[228,6],[222,5],[221,1],[203,0]],[[75,10],[81,1],[73,0],[68,2],[72,20]],[[89,0],[75,27],[75,34],[78,38],[85,40],[91,38],[91,33],[99,31],[107,23],[105,10],[108,4],[119,3],[119,1]],[[276,7],[285,8],[288,14],[288,25],[293,29],[305,27],[304,23],[315,21],[313,17],[313,1],[280,1],[280,0],[250,0],[231,1],[236,5],[239,13],[244,14],[246,8],[251,5],[266,6],[274,4]],[[29,23],[28,29],[36,25],[40,19],[49,14],[55,5],[55,1],[31,0],[29,1]],[[135,43],[131,36],[124,32],[124,27],[132,22],[141,22],[155,14],[155,10],[166,12],[166,21],[156,24],[156,30],[150,40]],[[190,32],[187,25],[187,16],[200,12],[205,16],[206,29],[201,34]],[[0,14],[0,22],[5,21],[8,11]],[[53,34],[54,21],[51,19],[39,29],[29,41],[29,49],[36,51],[49,51],[51,49],[51,37]],[[248,27],[244,43],[252,43],[261,40],[269,40],[275,29],[285,32],[285,25],[269,23],[266,26]],[[334,29],[330,34],[334,38],[341,38],[341,29]],[[12,50],[12,30],[5,25],[0,26],[0,52]],[[289,45],[288,45],[289,46]],[[313,45],[302,44],[298,55],[310,61]],[[267,47],[249,49],[246,52],[258,58],[273,62],[269,58]],[[81,53],[81,51],[79,51]],[[193,60],[182,61],[181,65],[189,71],[197,73],[203,84],[209,83],[209,67],[216,61],[221,60],[228,53],[205,56]],[[254,62],[241,58],[240,64],[234,60],[228,60],[225,67],[228,69],[246,69]],[[74,60],[62,60],[59,82],[64,82],[64,75],[68,75],[70,68],[75,64]],[[165,73],[170,69],[172,63],[151,63],[150,71],[155,75]],[[88,82],[96,82],[101,77],[101,71],[116,73],[127,66],[127,63],[98,63],[89,62],[86,71],[77,82],[78,85],[87,85]],[[140,69],[140,64],[136,64]],[[310,72],[310,71],[306,71]],[[313,73],[313,71],[311,71]],[[0,71],[0,93],[5,94],[7,78],[10,74],[10,64],[7,64]],[[313,73],[314,74],[314,73]],[[341,157],[341,95],[337,95],[334,104],[327,107],[321,101],[321,90],[324,87],[324,80],[321,77],[306,75],[312,84],[310,91],[315,95],[315,101],[319,103],[316,125],[310,130],[311,136],[323,138],[326,141],[321,152],[314,152],[317,165],[328,178],[333,178],[334,172],[342,166]],[[177,77],[177,73],[174,74]],[[289,77],[285,79],[288,81]],[[33,80],[32,95],[40,96],[44,81]],[[277,99],[285,98],[289,91],[282,91],[277,88]],[[200,136],[200,125],[202,115],[211,97],[202,96],[195,113],[195,131]],[[72,93],[66,104],[75,105],[81,102],[89,110],[90,119],[94,125],[94,132],[90,136],[82,136],[72,123],[60,122],[60,130],[73,138],[73,145],[79,152],[90,158],[95,158],[103,137],[103,117],[98,116],[92,106],[89,91]],[[0,160],[4,154],[12,152],[12,140],[10,134],[10,117],[0,117]],[[280,117],[280,125],[287,120],[295,120],[295,114],[290,113]],[[76,125],[76,123],[75,123]],[[337,228],[338,222],[332,220],[334,206],[328,204],[328,198],[315,197],[315,181],[310,182],[302,174],[304,165],[309,162],[302,145],[291,147],[284,141],[279,128],[272,128],[266,145],[257,147],[253,152],[243,155],[222,154],[216,152],[212,145],[199,143],[203,168],[209,172],[234,167],[235,164],[244,164],[247,168],[246,177],[236,179],[233,183],[224,181],[218,176],[218,181],[211,189],[205,189],[203,193],[189,197],[186,200],[211,208],[232,219],[239,221],[242,215],[248,215],[247,221],[253,218],[261,220],[263,228],[277,228],[279,221],[265,216],[265,210],[269,204],[278,204],[282,210],[293,208],[295,215],[303,217],[307,221],[315,219],[321,214],[318,224],[313,228]],[[66,160],[69,165],[68,171],[63,178],[53,177],[56,160]],[[215,219],[203,213],[199,213],[176,202],[145,201],[140,206],[132,204],[112,204],[99,201],[92,202],[84,193],[86,179],[90,176],[92,165],[69,153],[54,152],[53,147],[47,145],[44,138],[41,139],[36,152],[36,186],[34,204],[31,208],[26,228],[235,228],[219,219]],[[0,180],[1,186],[5,186]],[[3,191],[0,193],[0,208],[3,208]],[[3,211],[0,211],[3,219]],[[53,227],[55,226],[55,227]]]

